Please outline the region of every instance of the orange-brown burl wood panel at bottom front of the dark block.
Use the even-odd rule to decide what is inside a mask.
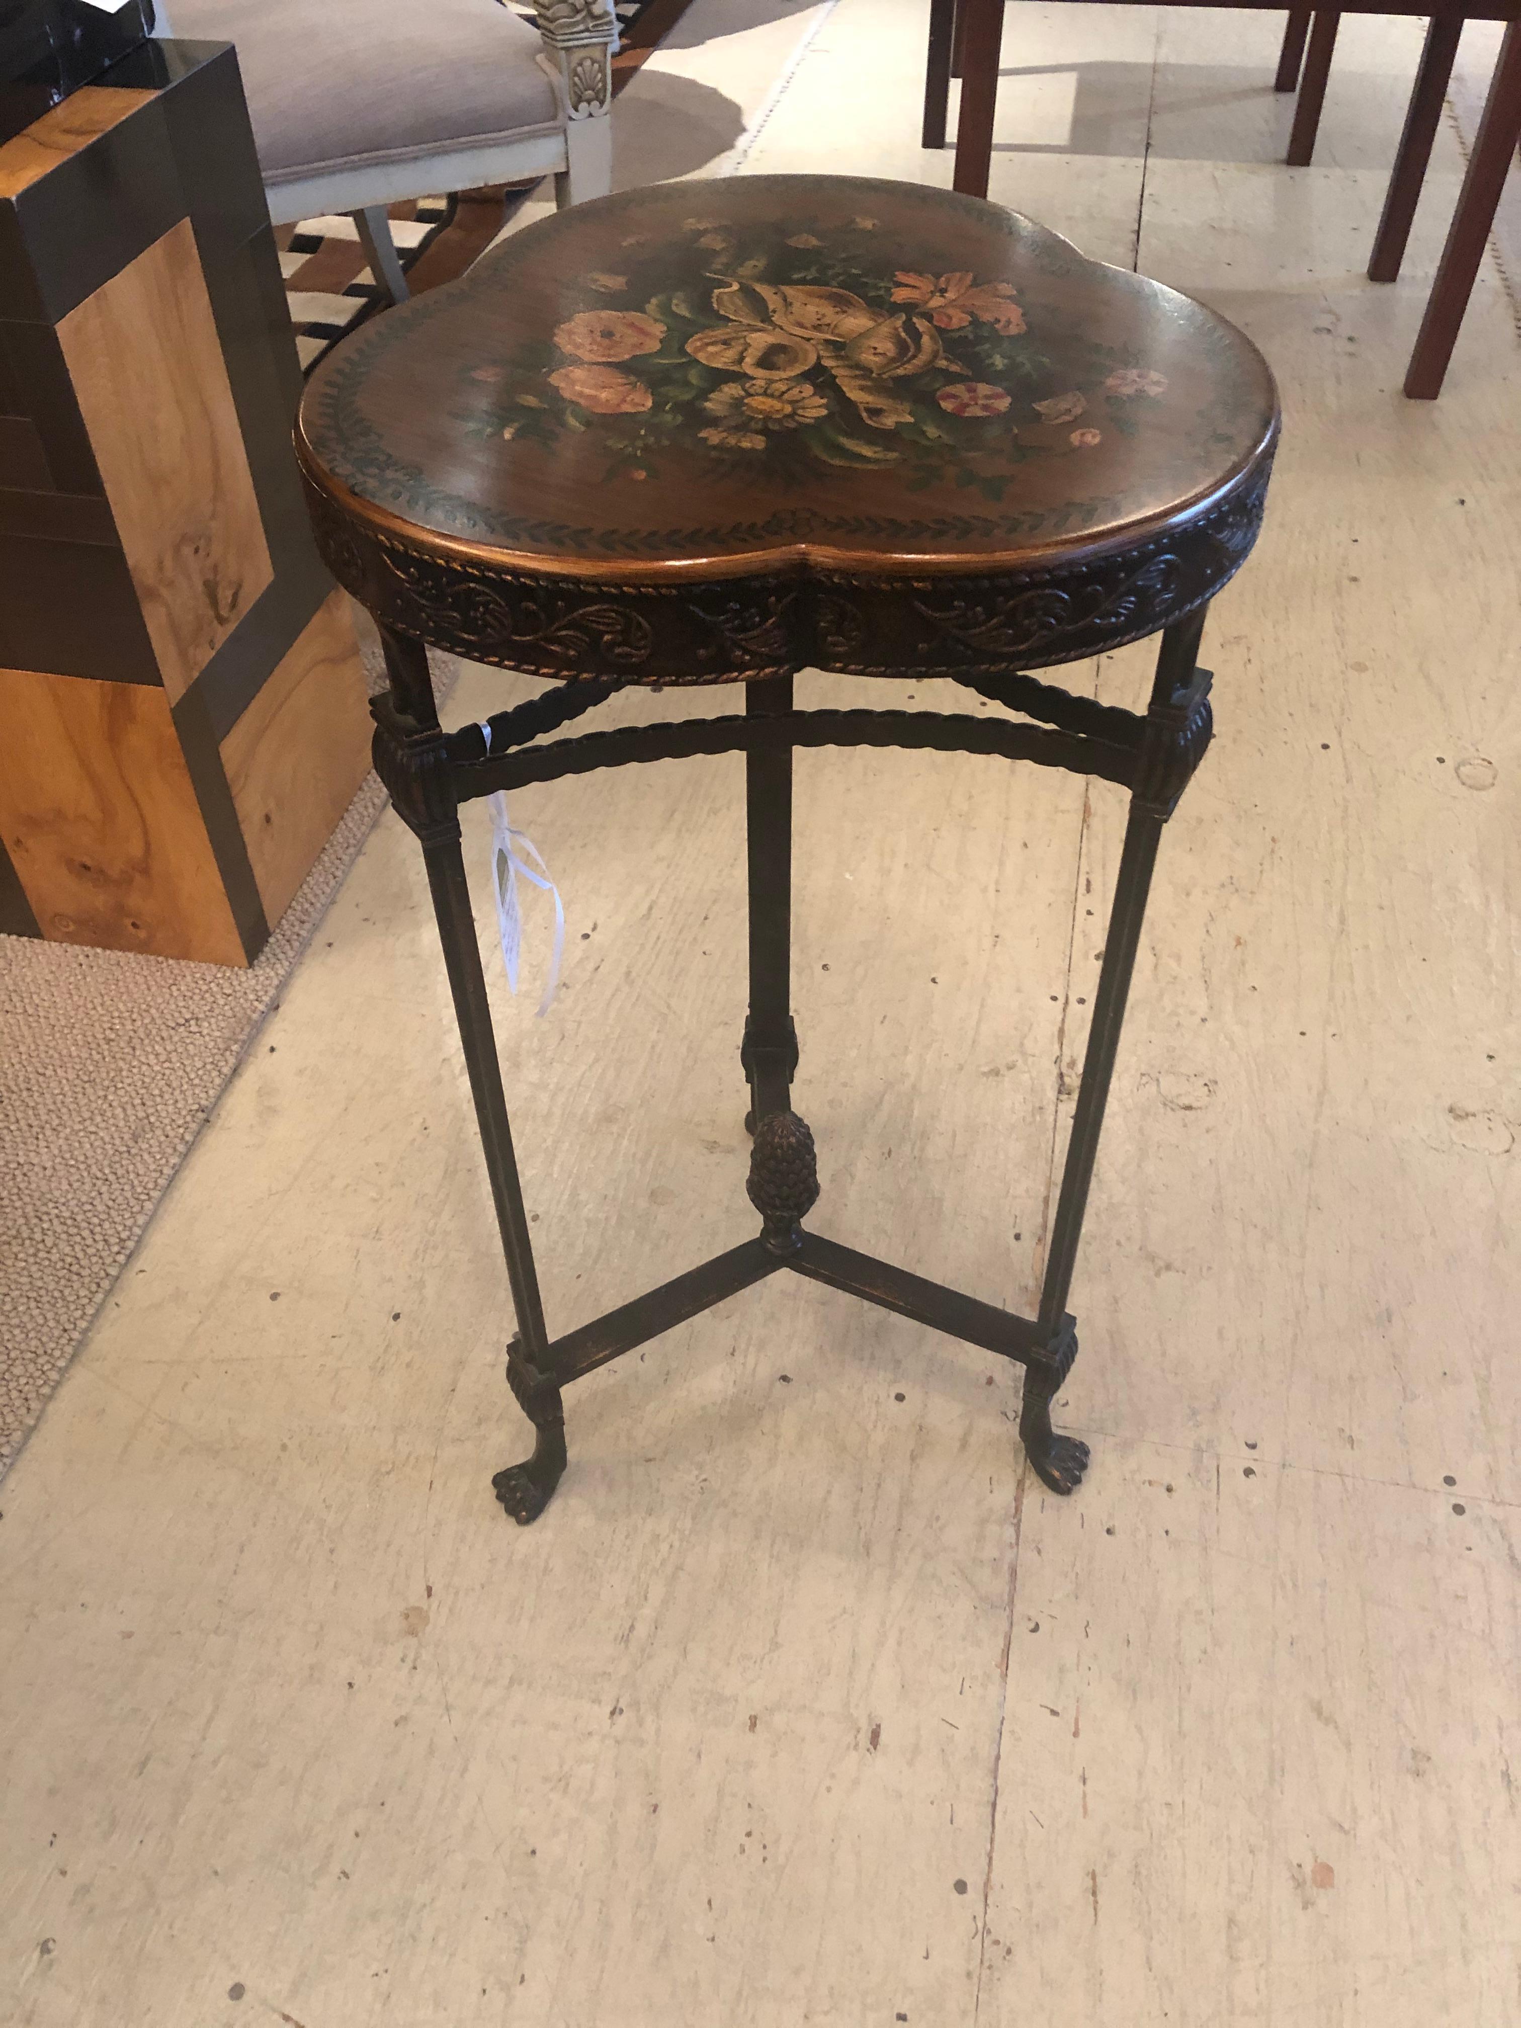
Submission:
[[[162,690],[0,669],[0,825],[45,937],[245,963]]]

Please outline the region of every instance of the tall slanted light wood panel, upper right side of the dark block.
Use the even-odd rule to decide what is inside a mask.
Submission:
[[[191,221],[71,310],[59,343],[174,702],[274,574]]]

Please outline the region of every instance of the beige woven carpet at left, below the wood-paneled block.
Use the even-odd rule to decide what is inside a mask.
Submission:
[[[383,809],[369,775],[245,971],[0,937],[0,1472]]]

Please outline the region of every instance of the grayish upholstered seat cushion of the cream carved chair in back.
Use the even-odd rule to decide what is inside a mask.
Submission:
[[[168,0],[237,45],[266,185],[556,132],[533,28],[497,0]]]

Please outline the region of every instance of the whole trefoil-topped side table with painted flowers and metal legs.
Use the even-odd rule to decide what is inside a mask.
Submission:
[[[1024,1367],[1051,1426],[1067,1298],[1162,825],[1211,738],[1199,641],[1263,511],[1261,355],[1176,292],[980,199],[854,176],[736,176],[578,205],[322,363],[298,424],[318,548],[379,623],[375,767],[422,842],[507,1259],[509,1385],[533,1521],[566,1468],[564,1387],[781,1270]],[[1144,714],[1032,671],[1160,633]],[[428,645],[554,690],[444,732]],[[1022,714],[793,708],[793,677],[953,677]],[[744,714],[539,744],[629,683],[744,683]],[[791,1109],[797,746],[1000,754],[1130,793],[1038,1314],[1010,1316],[805,1229]],[[748,1194],[760,1231],[552,1338],[460,856],[458,805],[590,769],[744,752]]]

